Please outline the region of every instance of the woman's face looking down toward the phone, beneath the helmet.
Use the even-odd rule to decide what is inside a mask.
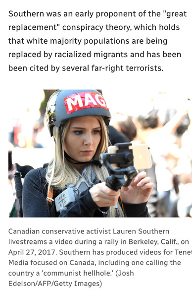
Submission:
[[[101,139],[99,121],[93,116],[71,119],[63,148],[77,162],[90,161]]]

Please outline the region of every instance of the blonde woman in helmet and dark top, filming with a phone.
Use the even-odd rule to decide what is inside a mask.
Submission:
[[[111,115],[103,96],[96,90],[58,90],[46,112],[55,155],[47,167],[26,175],[24,217],[149,217],[153,184],[145,172],[117,192],[105,185],[109,175],[98,158],[107,148]]]

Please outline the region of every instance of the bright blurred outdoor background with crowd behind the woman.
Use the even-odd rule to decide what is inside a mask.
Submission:
[[[148,207],[152,217],[192,216],[192,101],[186,93],[143,93],[97,89],[109,107],[111,143],[123,141],[150,146],[155,183]],[[41,167],[50,161],[54,141],[45,111],[53,90],[29,90],[11,100],[8,120],[9,206],[15,201],[14,172]],[[18,104],[19,101],[19,104]],[[114,142],[112,142],[114,141]]]

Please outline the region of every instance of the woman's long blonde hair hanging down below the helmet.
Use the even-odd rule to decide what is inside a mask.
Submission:
[[[107,135],[107,129],[102,117],[94,117],[99,121],[101,127],[101,140],[98,144],[96,153],[93,158],[94,160],[98,160],[100,153],[103,153],[107,150],[109,139]],[[82,178],[81,173],[73,166],[72,163],[67,161],[67,159],[64,156],[63,142],[65,140],[66,132],[69,128],[70,122],[71,119],[62,123],[60,128],[55,126],[53,127],[53,136],[55,139],[55,152],[53,159],[48,164],[48,170],[46,174],[46,179],[48,181],[48,192],[50,190],[50,187],[64,189],[66,182],[75,185]],[[92,182],[92,180],[90,179],[91,168],[94,170],[96,179],[101,180],[102,182],[105,181],[106,177],[109,176],[108,171],[104,166],[98,167],[97,165],[92,165],[90,163],[87,165],[87,174],[90,182]],[[118,207],[119,216],[124,217],[121,207]],[[114,207],[110,207],[108,217],[115,217],[115,215],[116,213]]]

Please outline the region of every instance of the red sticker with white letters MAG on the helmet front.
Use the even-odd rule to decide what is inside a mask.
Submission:
[[[103,96],[98,92],[79,92],[71,94],[64,99],[67,114],[87,108],[107,108]]]

